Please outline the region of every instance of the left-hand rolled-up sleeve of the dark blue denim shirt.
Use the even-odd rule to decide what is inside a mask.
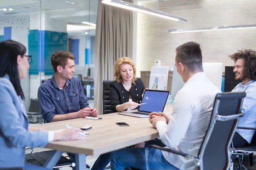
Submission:
[[[56,115],[56,108],[50,96],[50,92],[46,88],[40,86],[38,89],[38,101],[45,122],[50,122]]]

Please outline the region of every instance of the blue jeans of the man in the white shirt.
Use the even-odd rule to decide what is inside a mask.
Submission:
[[[156,148],[149,149],[148,160],[148,170],[179,170],[166,161],[161,150]],[[145,148],[124,148],[113,153],[111,170],[128,170],[129,167],[146,170]]]

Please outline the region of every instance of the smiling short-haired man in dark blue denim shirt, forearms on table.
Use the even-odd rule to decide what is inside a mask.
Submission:
[[[52,54],[54,75],[38,89],[38,100],[46,122],[98,116],[97,109],[89,107],[80,80],[72,77],[75,58],[68,51]]]

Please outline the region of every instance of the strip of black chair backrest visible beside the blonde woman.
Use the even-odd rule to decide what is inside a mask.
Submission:
[[[102,108],[103,114],[112,113],[111,111],[111,101],[109,98],[109,84],[113,82],[112,80],[103,80],[102,81]]]

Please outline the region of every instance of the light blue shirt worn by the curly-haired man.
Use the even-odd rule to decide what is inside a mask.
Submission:
[[[244,112],[244,117],[239,120],[238,126],[242,127],[256,127],[256,81],[251,80],[245,85],[239,83],[233,89],[232,92],[242,92],[246,93],[244,98],[242,111]],[[239,133],[248,143],[251,142],[255,130],[246,130],[246,129],[236,129],[236,132]]]

